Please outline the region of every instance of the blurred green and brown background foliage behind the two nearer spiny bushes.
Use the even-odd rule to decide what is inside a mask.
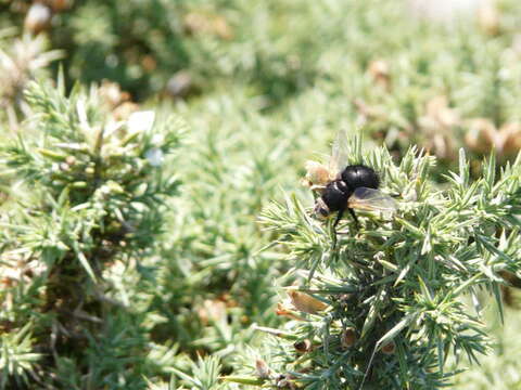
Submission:
[[[252,325],[282,323],[276,281],[293,265],[257,223],[260,210],[281,188],[312,204],[304,161],[328,153],[340,128],[363,128],[365,147],[385,144],[397,159],[410,144],[427,148],[440,158],[441,185],[459,147],[475,174],[492,151],[511,160],[521,148],[520,22],[516,0],[0,0],[2,144],[40,136],[41,113],[23,91],[34,79],[55,83],[60,72],[68,91],[43,105],[96,83],[105,102],[93,106],[97,118],[147,108],[161,126],[175,113],[189,128],[175,162],[160,168],[182,181],[164,200],[162,233],[106,271],[105,295],[132,310],[97,308],[103,332],[89,334],[87,348],[41,360],[30,354],[41,328],[24,327],[27,316],[13,327],[0,296],[2,348],[16,346],[22,372],[33,373],[25,377],[42,387],[233,388],[217,377],[253,372],[266,337]],[[27,190],[2,170],[8,218]],[[4,284],[15,277],[10,264],[2,255]],[[509,342],[518,321],[507,312],[496,354],[458,388],[521,386]],[[5,359],[0,385],[23,388]]]

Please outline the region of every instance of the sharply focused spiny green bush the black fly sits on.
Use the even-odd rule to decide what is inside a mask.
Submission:
[[[353,145],[347,155],[357,155]],[[443,191],[430,183],[434,159],[415,148],[399,166],[385,148],[363,161],[381,172],[383,191],[399,193],[392,217],[364,213],[361,229],[341,224],[336,242],[331,223],[310,219],[296,198],[264,212],[295,272],[307,275],[300,290],[328,304],[322,313],[292,297],[305,320],[287,329],[313,347],[298,358],[296,344],[284,343],[277,372],[309,389],[435,389],[454,375],[445,369],[449,353],[476,362],[492,341],[479,304],[471,314],[461,298],[479,302],[486,290],[501,311],[500,274],[521,271],[521,160],[496,181],[491,158],[470,183],[461,151]]]

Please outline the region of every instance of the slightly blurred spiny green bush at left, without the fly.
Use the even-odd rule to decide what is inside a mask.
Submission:
[[[97,89],[63,90],[33,83],[34,120],[2,148],[23,188],[9,194],[1,221],[2,388],[28,375],[80,388],[81,372],[94,387],[140,388],[143,375],[163,369],[148,356],[157,318],[140,313],[142,294],[110,296],[122,283],[116,270],[130,277],[162,232],[179,185],[162,170],[183,125],[154,122],[153,112],[116,121]]]

